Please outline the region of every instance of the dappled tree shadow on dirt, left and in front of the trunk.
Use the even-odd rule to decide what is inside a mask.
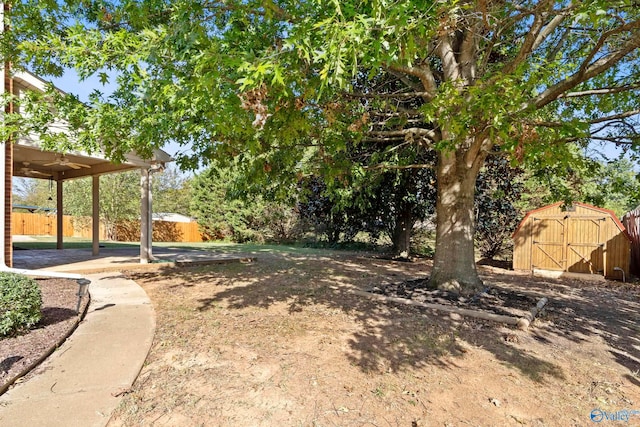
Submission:
[[[350,351],[346,357],[364,372],[401,371],[427,365],[453,369],[456,361],[468,351],[467,346],[472,345],[490,351],[502,364],[517,369],[533,381],[564,378],[559,365],[506,342],[501,325],[383,304],[350,292],[426,277],[429,265],[425,261],[411,264],[353,255],[282,254],[275,258],[276,263],[258,260],[249,265],[168,268],[135,276],[151,279],[164,275],[177,279],[174,287],[206,283],[211,287],[211,296],[197,301],[197,310],[201,312],[220,306],[229,310],[269,309],[279,303],[287,304],[289,313],[317,306],[337,310],[359,325],[349,339]]]

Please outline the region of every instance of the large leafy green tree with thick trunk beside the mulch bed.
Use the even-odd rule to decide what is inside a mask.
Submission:
[[[57,101],[79,143],[114,157],[173,140],[193,150],[183,164],[233,157],[277,187],[358,173],[346,141],[378,147],[367,168],[420,167],[393,153],[435,148],[431,282],[472,292],[489,153],[541,167],[589,138],[638,142],[639,14],[632,0],[25,0],[3,49],[40,74],[117,70],[92,109]],[[401,85],[361,90],[381,73]]]

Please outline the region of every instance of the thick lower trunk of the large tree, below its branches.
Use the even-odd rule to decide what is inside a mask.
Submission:
[[[465,295],[482,286],[475,263],[473,202],[485,157],[477,154],[469,162],[468,155],[468,150],[443,151],[438,159],[436,252],[430,279],[432,287]]]

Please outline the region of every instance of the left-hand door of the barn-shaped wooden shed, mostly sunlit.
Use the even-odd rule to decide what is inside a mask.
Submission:
[[[532,233],[532,267],[565,271],[564,218],[533,218]]]

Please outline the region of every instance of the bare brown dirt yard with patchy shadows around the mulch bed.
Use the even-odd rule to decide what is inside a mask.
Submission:
[[[264,255],[130,273],[157,313],[110,426],[640,425],[640,291],[480,267],[545,312],[527,331],[350,294],[430,263]],[[606,420],[605,420],[606,421]]]

